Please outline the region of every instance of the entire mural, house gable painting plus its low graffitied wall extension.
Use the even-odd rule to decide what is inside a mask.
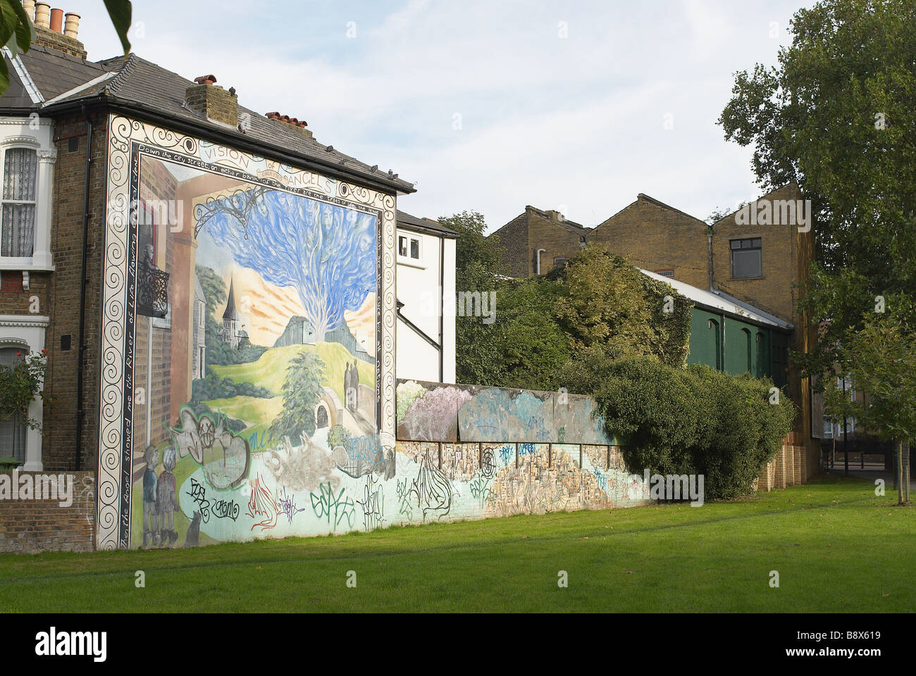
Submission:
[[[109,134],[100,549],[644,502],[590,399],[396,398],[392,196],[116,116]]]

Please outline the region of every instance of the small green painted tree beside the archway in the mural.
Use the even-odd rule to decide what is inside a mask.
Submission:
[[[289,437],[295,443],[302,432],[314,433],[315,407],[324,394],[323,373],[324,362],[311,352],[300,352],[289,363],[283,382],[283,412],[270,426],[271,437]]]

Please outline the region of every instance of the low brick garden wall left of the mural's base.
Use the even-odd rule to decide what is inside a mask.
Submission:
[[[27,474],[33,482],[40,475],[20,472],[18,476]],[[60,507],[59,500],[0,500],[0,552],[93,551],[95,473],[70,475],[70,507]]]

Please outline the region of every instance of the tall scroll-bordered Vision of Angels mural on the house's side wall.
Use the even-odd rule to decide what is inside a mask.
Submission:
[[[97,546],[339,532],[354,506],[380,511],[393,196],[125,118],[109,139]]]

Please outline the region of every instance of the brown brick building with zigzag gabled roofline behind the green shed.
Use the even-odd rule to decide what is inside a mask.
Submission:
[[[563,256],[575,250],[579,237],[582,243],[604,245],[615,254],[627,256],[631,264],[672,284],[681,282],[692,289],[705,289],[703,293],[709,297],[704,296],[703,305],[707,307],[716,308],[721,301],[728,307],[749,308],[760,317],[778,322],[780,332],[773,334],[774,342],[759,347],[759,354],[770,355],[762,359],[775,360],[779,373],[774,379],[787,387],[789,397],[799,405],[791,442],[805,447],[806,476],[812,476],[823,431],[821,407],[817,398],[812,398],[808,380],[788,364],[790,350],[807,352],[813,340],[808,322],[798,313],[800,288],[813,259],[811,215],[810,205],[802,201],[798,186],[789,184],[711,225],[639,193],[635,202],[594,228],[571,224],[559,214],[552,217],[551,213],[528,207],[494,234],[499,235],[507,267],[514,277],[530,277],[539,269],[546,272],[545,259],[551,266],[562,263]],[[718,300],[713,302],[713,297]],[[755,350],[758,341],[765,339],[748,327],[734,324],[735,318],[729,318],[727,313],[716,318],[704,312],[694,311],[692,332],[712,333],[710,340],[703,342],[702,350],[693,352],[693,358],[730,373],[743,372],[742,365],[751,373],[758,372]],[[734,331],[738,332],[734,334],[737,341]],[[752,343],[749,353],[748,340]],[[779,374],[783,376],[775,377]]]

